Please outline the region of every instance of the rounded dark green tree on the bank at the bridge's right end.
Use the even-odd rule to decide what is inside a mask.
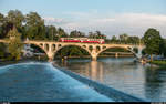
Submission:
[[[151,55],[151,61],[153,61],[153,54],[159,54],[159,45],[162,38],[159,31],[149,28],[144,34],[144,43],[146,45],[145,52]]]

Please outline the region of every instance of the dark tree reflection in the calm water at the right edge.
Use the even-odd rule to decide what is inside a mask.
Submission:
[[[145,70],[145,96],[149,97],[152,101],[162,101],[166,94],[166,91],[164,90],[166,87],[165,71],[147,67]]]

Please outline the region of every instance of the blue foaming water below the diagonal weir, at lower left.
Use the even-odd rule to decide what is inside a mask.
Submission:
[[[101,102],[111,98],[53,67],[50,62],[0,66],[0,102]]]

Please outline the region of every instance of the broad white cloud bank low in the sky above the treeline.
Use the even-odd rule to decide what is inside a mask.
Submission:
[[[80,30],[83,32],[100,30],[108,37],[128,33],[143,35],[148,28],[156,28],[166,38],[166,15],[147,13],[110,13],[98,12],[69,12],[71,20],[46,18],[50,23],[64,28],[68,32]],[[68,21],[68,22],[66,22]]]

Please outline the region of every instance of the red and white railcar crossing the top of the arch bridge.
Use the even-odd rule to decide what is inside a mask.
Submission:
[[[105,43],[104,39],[89,39],[89,38],[61,38],[60,42],[80,42],[80,43]]]

